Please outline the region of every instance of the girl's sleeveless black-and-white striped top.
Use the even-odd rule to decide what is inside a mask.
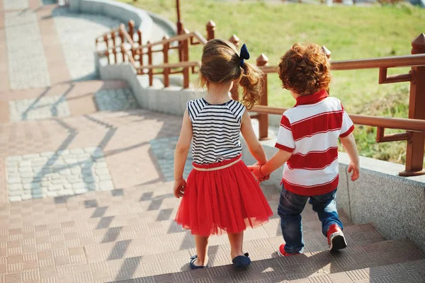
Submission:
[[[205,99],[187,103],[192,122],[192,155],[197,164],[215,163],[242,154],[239,141],[245,106],[235,100],[209,104]]]

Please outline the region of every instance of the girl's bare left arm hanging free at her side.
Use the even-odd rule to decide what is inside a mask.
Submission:
[[[186,180],[183,179],[184,164],[188,158],[191,148],[192,123],[189,120],[188,111],[183,115],[183,125],[181,126],[179,141],[177,141],[176,152],[174,154],[174,196],[183,197]]]

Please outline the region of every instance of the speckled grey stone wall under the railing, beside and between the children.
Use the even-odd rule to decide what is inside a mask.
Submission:
[[[262,142],[268,158],[277,151],[275,142]],[[243,154],[246,164],[256,162],[246,146]],[[401,164],[361,157],[361,178],[352,182],[348,163],[348,155],[340,152],[338,208],[354,224],[372,223],[385,238],[409,238],[425,251],[425,176],[400,177]],[[282,171],[264,183],[280,186]]]

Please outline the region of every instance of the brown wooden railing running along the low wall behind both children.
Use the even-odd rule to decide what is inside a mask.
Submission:
[[[154,75],[164,76],[164,86],[169,86],[170,74],[183,75],[183,88],[189,87],[190,73],[194,73],[200,67],[199,60],[189,61],[189,50],[192,45],[205,45],[208,40],[215,38],[215,23],[210,21],[206,25],[207,37],[198,32],[190,33],[183,29],[180,35],[171,38],[164,37],[158,42],[142,43],[142,34],[137,30],[137,41],[135,41],[134,22],[128,23],[128,30],[121,24],[119,28],[102,35],[96,39],[96,45],[106,43],[106,50],[99,52],[100,56],[108,57],[108,64],[119,62],[130,62],[137,70],[137,74],[149,76],[149,86],[153,85]],[[232,35],[229,41],[239,46],[239,37]],[[177,50],[179,54],[178,63],[169,62],[170,50]],[[331,52],[326,47],[322,50],[330,59]],[[153,54],[162,52],[163,62],[153,64]],[[111,58],[112,57],[112,58]],[[120,58],[118,60],[118,58]],[[145,57],[145,59],[144,59]],[[146,58],[147,57],[147,58]],[[263,95],[260,105],[251,109],[252,118],[259,120],[259,138],[268,139],[268,115],[282,115],[285,108],[273,108],[268,106],[268,76],[276,75],[276,67],[268,66],[268,58],[261,54],[256,59],[256,65],[263,72]],[[408,74],[387,76],[387,69],[392,67],[411,67]],[[356,70],[356,69],[379,69],[378,83],[410,82],[409,118],[375,117],[367,115],[350,115],[357,125],[368,125],[377,127],[377,142],[385,141],[407,141],[407,153],[405,171],[399,175],[411,176],[424,174],[424,147],[425,147],[425,35],[422,33],[412,42],[412,54],[398,57],[381,57],[372,59],[359,59],[347,61],[331,61],[333,70]],[[154,71],[162,69],[162,71]],[[239,99],[237,84],[231,90],[232,98]],[[402,129],[407,132],[398,134],[385,134],[385,128]]]

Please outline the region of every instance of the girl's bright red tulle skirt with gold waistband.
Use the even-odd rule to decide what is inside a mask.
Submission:
[[[199,165],[217,168],[239,159]],[[200,236],[239,233],[256,227],[273,215],[261,188],[244,161],[215,171],[193,169],[176,214],[176,222]]]

